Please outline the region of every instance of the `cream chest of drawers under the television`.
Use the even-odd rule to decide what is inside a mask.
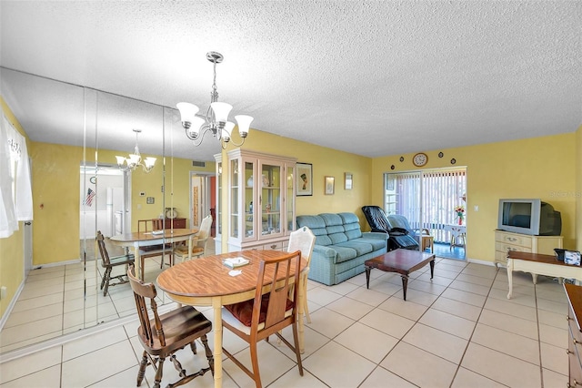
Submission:
[[[495,266],[507,265],[507,251],[554,255],[554,248],[562,248],[562,236],[530,236],[505,230],[495,231]]]

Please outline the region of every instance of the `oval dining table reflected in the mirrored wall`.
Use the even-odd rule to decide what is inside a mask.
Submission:
[[[141,278],[140,248],[151,247],[153,245],[164,245],[181,241],[188,241],[188,260],[192,259],[192,238],[198,232],[197,229],[166,229],[161,233],[142,231],[117,234],[110,238],[111,242],[120,247],[134,248],[135,273]],[[171,250],[168,248],[168,250]],[[143,280],[143,279],[142,279]]]

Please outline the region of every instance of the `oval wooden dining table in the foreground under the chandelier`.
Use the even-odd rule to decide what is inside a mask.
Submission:
[[[282,250],[243,250],[202,257],[176,264],[160,273],[158,287],[166,291],[170,299],[190,306],[212,306],[214,310],[214,360],[215,387],[222,386],[222,306],[255,298],[256,282],[261,259],[276,259],[288,254]],[[241,273],[229,274],[231,268],[223,264],[228,258],[243,257],[249,263],[236,268]],[[306,268],[306,260],[301,260],[299,271]],[[292,273],[295,273],[292,269]],[[268,276],[265,277],[268,281]],[[291,278],[293,280],[293,278]],[[303,349],[303,313],[305,296],[298,287],[298,337]],[[269,291],[264,288],[263,293]]]

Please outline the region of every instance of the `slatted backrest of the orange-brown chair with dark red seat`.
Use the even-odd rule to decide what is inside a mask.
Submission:
[[[297,303],[294,301],[297,301],[298,287],[293,287],[293,283],[290,280],[293,277],[295,284],[299,284],[300,265],[300,250],[286,254],[278,259],[261,260],[256,282],[251,332],[258,331],[259,323],[265,323],[261,330],[267,330],[282,322],[295,321]],[[294,274],[291,273],[292,269],[295,269]],[[283,278],[281,279],[282,276]],[[271,285],[271,291],[264,297],[262,291],[266,279],[268,280],[267,284]],[[283,281],[283,284],[277,287],[277,281]],[[267,295],[268,297],[266,297]],[[293,299],[289,298],[290,295],[293,295]],[[292,310],[290,314],[287,312],[289,310]],[[263,316],[264,322],[261,319],[263,314],[265,314]]]

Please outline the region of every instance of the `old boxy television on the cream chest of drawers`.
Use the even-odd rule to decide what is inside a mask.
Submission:
[[[497,229],[533,236],[559,236],[562,217],[541,199],[499,199]]]

